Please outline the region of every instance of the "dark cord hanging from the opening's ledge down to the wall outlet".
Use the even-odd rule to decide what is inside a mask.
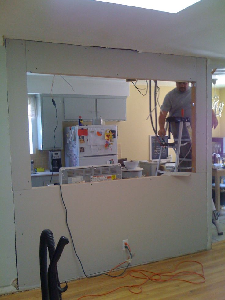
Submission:
[[[76,252],[76,249],[75,249],[75,245],[74,245],[74,241],[73,241],[73,238],[72,238],[72,234],[71,234],[71,231],[70,231],[70,228],[69,228],[69,225],[68,225],[68,214],[67,214],[67,208],[66,208],[66,205],[65,205],[65,202],[64,202],[64,199],[63,199],[63,195],[62,195],[62,189],[61,189],[61,185],[59,184],[59,187],[60,187],[60,194],[61,194],[61,199],[62,199],[62,203],[63,203],[63,206],[65,208],[65,212],[66,212],[66,226],[67,226],[67,229],[69,231],[69,235],[70,235],[70,238],[71,238],[71,241],[72,241],[72,245],[73,245],[73,250],[74,250],[74,253],[76,255],[76,257],[78,258],[79,260],[79,263],[81,265],[81,268],[83,270],[83,273],[84,273],[84,276],[86,278],[91,278],[91,277],[98,277],[98,276],[101,276],[101,275],[107,275],[109,277],[113,277],[113,278],[119,278],[120,276],[122,276],[124,274],[124,272],[126,272],[128,266],[130,265],[130,260],[132,259],[132,253],[131,253],[131,250],[130,250],[130,246],[128,245],[128,243],[125,243],[125,248],[128,250],[129,254],[130,254],[130,257],[127,258],[126,261],[120,263],[119,265],[117,265],[116,267],[112,268],[109,273],[101,273],[101,274],[97,274],[97,275],[91,275],[91,276],[87,276],[87,274],[85,273],[84,271],[84,268],[83,268],[83,265],[82,265],[82,262]],[[114,271],[115,269],[119,268],[121,265],[125,264],[125,263],[128,263],[126,268],[123,270],[123,272],[119,275],[116,275],[116,276],[113,276],[111,275],[111,272]]]

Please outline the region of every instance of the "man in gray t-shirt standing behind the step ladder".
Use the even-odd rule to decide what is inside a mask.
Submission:
[[[159,136],[165,136],[165,119],[166,115],[169,112],[170,117],[181,117],[181,110],[184,110],[184,117],[188,117],[191,123],[191,87],[189,87],[188,82],[176,82],[176,88],[170,91],[164,98],[163,104],[161,106],[161,112],[159,115]],[[214,129],[218,125],[218,120],[216,114],[212,110],[212,128]],[[171,130],[173,137],[178,138],[178,123],[171,123]],[[187,138],[188,132],[186,126],[183,126],[182,138]],[[191,159],[191,145],[188,143],[185,146],[180,148],[180,158]],[[179,164],[179,167],[182,170],[183,168],[191,168],[191,161],[182,161]]]

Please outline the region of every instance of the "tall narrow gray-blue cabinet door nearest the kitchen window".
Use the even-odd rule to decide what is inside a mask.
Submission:
[[[41,97],[41,121],[42,121],[42,150],[63,149],[62,142],[62,102],[63,98],[54,97],[56,106],[53,105],[52,97]],[[57,119],[56,119],[57,109]],[[57,125],[58,120],[58,125]],[[56,128],[57,125],[57,128]],[[55,129],[56,128],[56,129]],[[54,139],[55,131],[55,139]],[[39,149],[41,145],[39,145]]]

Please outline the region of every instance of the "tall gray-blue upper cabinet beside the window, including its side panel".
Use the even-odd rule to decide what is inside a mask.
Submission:
[[[50,97],[49,94],[38,94],[35,97],[37,104],[38,149],[63,149],[63,97],[54,97],[56,106],[53,105],[53,97]]]

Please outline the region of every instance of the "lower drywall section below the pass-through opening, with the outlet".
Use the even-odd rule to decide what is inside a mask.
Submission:
[[[131,265],[206,249],[206,190],[199,188],[206,174],[169,179],[157,176],[61,186],[68,225],[87,275],[124,261],[124,239],[135,253]],[[171,186],[176,186],[175,191]],[[40,284],[39,238],[46,228],[53,232],[56,244],[61,235],[70,240],[58,263],[60,280],[83,277],[66,227],[60,187],[36,187],[16,191],[14,196],[20,289]]]

